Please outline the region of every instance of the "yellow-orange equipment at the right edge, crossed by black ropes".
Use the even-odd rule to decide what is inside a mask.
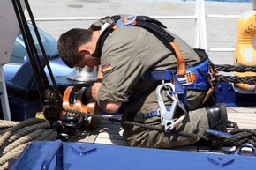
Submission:
[[[237,45],[234,56],[235,65],[256,65],[256,11],[245,11],[237,23]],[[235,72],[236,76],[256,76],[255,72]],[[234,84],[236,92],[255,93],[256,85]]]

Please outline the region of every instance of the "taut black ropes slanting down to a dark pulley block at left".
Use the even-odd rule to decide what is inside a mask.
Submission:
[[[37,29],[37,26],[34,21],[34,16],[31,11],[30,5],[28,3],[28,0],[24,1],[26,4],[26,11],[28,12],[29,17],[31,18],[32,26],[34,28],[34,33],[36,35],[36,39],[39,42],[40,48],[41,48],[41,54],[44,59],[44,64],[47,66],[49,70],[49,77],[51,78],[51,82],[53,85],[49,84],[48,77],[44,71],[44,65],[41,63],[41,57],[39,55],[38,49],[35,47],[34,39],[32,37],[32,33],[30,32],[30,29],[26,22],[25,13],[23,11],[22,5],[20,1],[18,0],[12,0],[13,8],[16,13],[16,17],[19,22],[19,28],[22,33],[25,45],[26,45],[26,51],[29,57],[29,61],[32,66],[32,70],[34,73],[34,79],[36,82],[36,86],[40,95],[41,99],[41,105],[44,107],[44,116],[47,120],[50,122],[53,120],[55,122],[58,120],[59,116],[61,115],[60,108],[62,107],[62,97],[60,95],[60,92],[58,91],[58,88],[56,86],[56,81],[53,76],[53,73],[49,66],[48,57],[46,55],[46,52],[44,50],[43,44],[41,42],[41,37],[39,34],[39,31]],[[48,109],[49,116],[46,116],[45,113],[45,107],[50,106],[53,109]],[[57,112],[56,112],[57,110]],[[49,118],[49,119],[48,119]]]

